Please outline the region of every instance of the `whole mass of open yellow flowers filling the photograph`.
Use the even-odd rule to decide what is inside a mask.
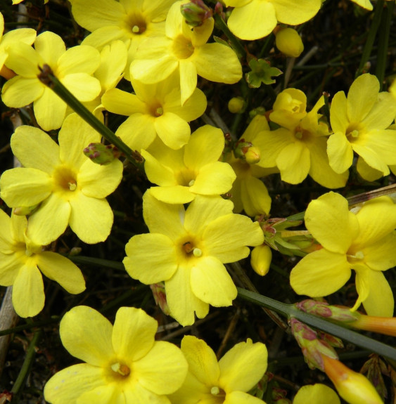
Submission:
[[[372,9],[368,0],[355,3]],[[352,166],[366,181],[395,171],[396,97],[380,92],[372,74],[357,77],[347,96],[343,91],[333,96],[329,120],[319,113],[325,96],[308,112],[305,93],[286,88],[271,110],[256,111],[239,139],[210,124],[191,133],[190,122],[208,105],[198,76],[222,84],[244,79],[238,49],[222,39],[211,41],[212,10],[200,0],[70,4],[72,17],[90,32],[71,48],[49,31],[18,28],[3,34],[0,13],[0,74],[7,79],[1,99],[11,108],[32,104],[37,123],[15,129],[11,149],[22,167],[0,178],[1,199],[12,208],[11,217],[0,210],[0,285],[13,285],[13,306],[21,317],[44,308],[41,273],[71,294],[84,291],[75,263],[45,246],[68,226],[84,243],[105,241],[113,226],[106,197],[120,185],[124,169],[119,158],[96,164],[83,153],[101,143],[101,134],[44,82],[47,70],[101,122],[103,111],[127,117],[115,136],[143,157],[153,186],[143,195],[149,233],[129,240],[124,267],[143,284],[164,282],[170,315],[183,326],[205,318],[210,306],[232,305],[237,289],[224,264],[246,259],[249,247],[255,247],[253,268],[265,261],[258,272],[267,273],[269,245],[278,248],[266,233],[272,200],[264,176],[279,173],[281,181],[294,185],[310,176],[336,189],[346,185]],[[276,46],[292,57],[302,53],[302,41],[285,26],[314,18],[321,4],[224,0],[231,7],[226,20],[231,35],[253,41],[281,24]],[[221,12],[217,16],[222,18]],[[133,93],[117,88],[121,81],[128,81]],[[233,108],[238,112],[243,103],[236,100]],[[392,317],[394,299],[383,271],[396,265],[393,200],[383,196],[350,209],[343,196],[328,192],[309,203],[305,225],[319,247],[300,249],[309,254],[290,273],[295,292],[326,297],[345,285],[353,269],[358,299],[352,310],[363,304],[369,315]],[[114,325],[93,308],[72,308],[60,322],[60,338],[85,363],[55,374],[46,384],[46,400],[262,403],[248,392],[267,370],[264,344],[248,339],[217,362],[205,341],[186,336],[179,349],[155,341],[156,328],[138,308],[120,308]],[[339,402],[326,386],[313,386],[309,394]],[[301,390],[295,404],[308,396]]]

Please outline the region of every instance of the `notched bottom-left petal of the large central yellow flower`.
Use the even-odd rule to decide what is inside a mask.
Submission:
[[[204,318],[209,312],[209,304],[198,299],[191,290],[190,268],[179,266],[172,278],[165,281],[165,292],[170,315],[183,326],[193,324],[194,313]]]

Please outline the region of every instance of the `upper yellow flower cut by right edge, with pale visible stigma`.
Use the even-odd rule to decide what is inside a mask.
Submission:
[[[339,91],[333,97],[330,122],[333,135],[327,141],[331,167],[341,173],[353,162],[353,152],[359,155],[357,170],[363,178],[371,172],[389,174],[388,165],[396,164],[395,131],[387,129],[395,119],[396,99],[384,91],[378,93],[378,79],[362,74],[350,86],[347,97]],[[359,162],[364,164],[359,164]]]

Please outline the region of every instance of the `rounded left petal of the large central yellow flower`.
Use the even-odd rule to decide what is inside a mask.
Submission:
[[[172,277],[177,271],[174,243],[162,234],[134,235],[125,246],[124,266],[134,279],[150,285]]]

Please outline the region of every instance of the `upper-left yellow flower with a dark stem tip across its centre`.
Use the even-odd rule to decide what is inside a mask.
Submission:
[[[39,80],[39,67],[49,65],[75,97],[87,102],[101,91],[101,84],[91,76],[100,56],[91,46],[75,46],[66,51],[63,40],[49,31],[37,37],[34,48],[23,42],[8,48],[6,66],[17,76],[4,84],[1,98],[8,107],[20,108],[33,103],[34,116],[41,128],[58,129],[65,118],[66,103]]]

